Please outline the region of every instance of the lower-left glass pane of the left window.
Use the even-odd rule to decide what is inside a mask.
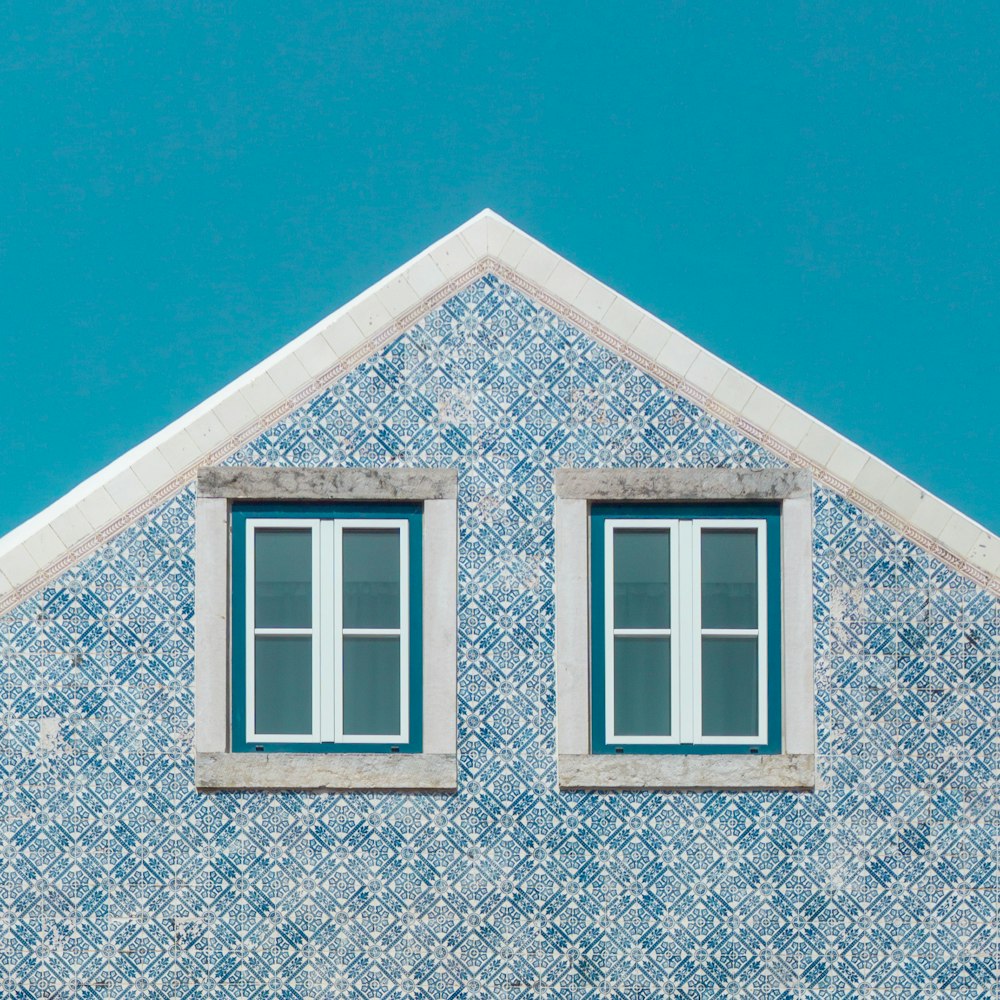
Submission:
[[[258,733],[312,732],[312,638],[254,640],[254,725]]]

